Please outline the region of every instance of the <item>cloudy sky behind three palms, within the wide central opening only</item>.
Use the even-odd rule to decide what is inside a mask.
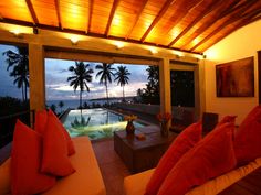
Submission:
[[[93,68],[93,80],[87,83],[90,87],[90,93],[84,91],[83,98],[85,99],[96,99],[106,97],[105,86],[100,84],[100,78],[96,77],[97,69],[95,66],[101,63],[87,63],[90,67]],[[73,87],[66,82],[69,76],[72,74],[67,71],[69,66],[74,65],[72,61],[56,61],[56,59],[45,59],[45,74],[46,74],[46,99],[77,99],[79,89],[74,93]],[[125,85],[125,96],[136,96],[138,88],[146,87],[147,83],[147,65],[125,65],[125,64],[114,64],[113,66],[123,65],[130,72],[129,82]],[[63,72],[61,74],[61,72]],[[60,74],[59,74],[60,73]],[[113,78],[114,80],[114,78]],[[108,84],[108,95],[109,97],[122,97],[123,88],[117,85],[116,82]]]

